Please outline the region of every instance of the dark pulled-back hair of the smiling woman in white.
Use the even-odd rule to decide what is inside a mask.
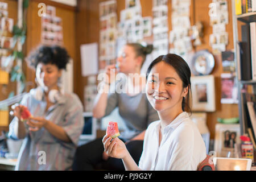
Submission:
[[[183,97],[181,107],[183,111],[188,111],[189,113],[191,113],[191,107],[189,106],[189,93],[191,93],[191,71],[187,62],[182,57],[180,57],[179,55],[175,55],[174,53],[161,55],[157,57],[154,61],[152,61],[152,63],[149,65],[147,69],[146,78],[148,77],[148,74],[150,73],[151,69],[160,61],[164,61],[164,63],[171,65],[175,69],[175,71],[177,72],[177,74],[179,75],[183,82],[183,88],[186,88],[188,86],[188,94],[186,97]]]

